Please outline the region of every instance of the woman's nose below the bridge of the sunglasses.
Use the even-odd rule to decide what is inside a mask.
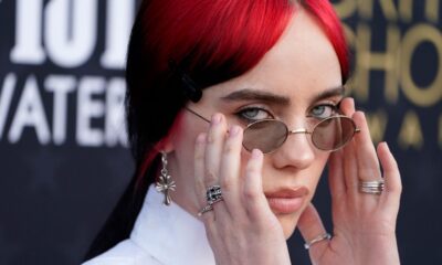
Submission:
[[[314,147],[308,140],[311,134],[305,129],[292,130],[284,142],[273,155],[277,168],[308,168],[315,160]]]

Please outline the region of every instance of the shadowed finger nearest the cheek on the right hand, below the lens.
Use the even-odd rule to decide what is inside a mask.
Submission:
[[[341,201],[346,194],[346,184],[343,169],[343,150],[330,155],[328,160],[328,184],[330,187],[332,202]]]

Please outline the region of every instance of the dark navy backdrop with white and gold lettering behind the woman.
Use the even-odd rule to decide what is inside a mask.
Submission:
[[[402,172],[402,264],[442,264],[442,3],[334,4],[352,51],[349,93]],[[125,189],[136,10],[136,0],[0,0],[0,264],[80,264]],[[325,181],[315,203],[330,229]],[[308,264],[298,233],[288,244]]]

